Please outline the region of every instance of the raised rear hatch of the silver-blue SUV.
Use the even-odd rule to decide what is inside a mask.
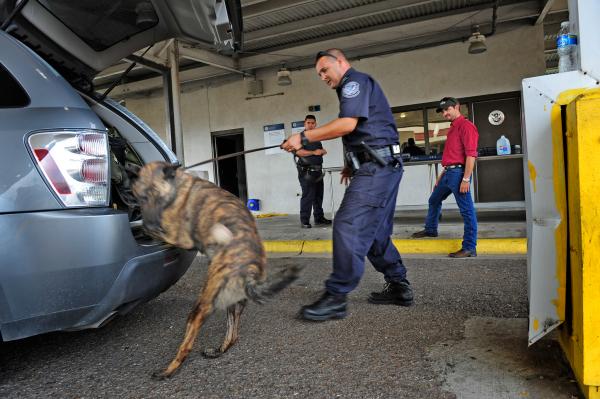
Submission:
[[[241,45],[239,0],[0,0],[0,19],[23,1],[7,31],[85,91],[98,72],[162,40],[222,53]]]

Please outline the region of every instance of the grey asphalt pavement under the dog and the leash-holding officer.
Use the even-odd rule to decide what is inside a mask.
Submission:
[[[175,354],[203,283],[204,258],[157,299],[98,330],[0,344],[2,398],[576,398],[576,383],[552,338],[527,348],[523,257],[410,257],[410,308],[372,305],[382,288],[368,266],[344,320],[299,320],[331,269],[329,257],[274,257],[272,269],[304,268],[264,305],[250,304],[241,338],[218,346],[216,313],[172,379],[150,374]]]

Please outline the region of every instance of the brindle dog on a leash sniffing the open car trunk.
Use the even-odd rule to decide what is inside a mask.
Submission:
[[[133,185],[146,231],[169,244],[196,248],[210,259],[207,280],[187,319],[185,337],[175,358],[155,378],[170,377],[192,349],[202,324],[215,309],[227,309],[227,333],[215,358],[238,339],[247,299],[261,302],[283,289],[298,269],[283,270],[265,287],[266,255],[252,214],[234,195],[174,165],[152,162],[139,170]]]

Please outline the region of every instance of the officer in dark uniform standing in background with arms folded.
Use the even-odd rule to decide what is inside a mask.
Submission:
[[[304,117],[304,131],[312,130],[317,126],[314,115]],[[295,152],[297,157],[298,180],[302,187],[300,198],[300,223],[302,228],[311,228],[311,209],[316,226],[330,225],[331,220],[325,218],[323,213],[323,149],[320,141],[309,143]]]

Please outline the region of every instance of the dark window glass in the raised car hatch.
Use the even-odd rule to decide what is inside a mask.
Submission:
[[[38,0],[96,51],[103,51],[158,23],[149,0]]]

